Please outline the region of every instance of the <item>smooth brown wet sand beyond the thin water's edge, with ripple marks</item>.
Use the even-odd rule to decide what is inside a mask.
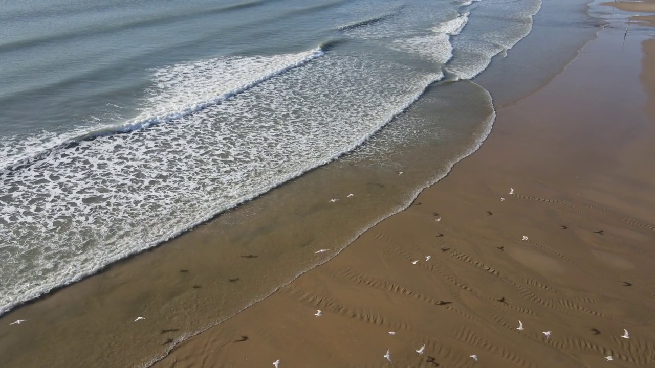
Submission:
[[[155,367],[654,366],[655,42],[623,37],[499,109],[409,209]]]

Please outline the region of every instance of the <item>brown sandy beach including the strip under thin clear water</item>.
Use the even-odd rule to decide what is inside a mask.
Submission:
[[[549,33],[544,22],[474,80],[497,96],[482,147],[343,251],[353,219],[388,211],[377,196],[406,204],[389,193],[429,176],[424,155],[441,147],[398,143],[417,159],[388,177],[366,161],[328,164],[20,306],[0,318],[0,366],[149,367],[158,355],[158,368],[655,366],[655,3],[607,5],[645,15],[625,37],[627,17],[604,26],[582,2],[567,11],[587,23]],[[584,36],[540,43],[573,31]],[[571,60],[595,31],[561,73],[548,62]],[[480,86],[428,90],[419,115],[432,94]],[[470,103],[448,107],[476,132],[493,111]]]

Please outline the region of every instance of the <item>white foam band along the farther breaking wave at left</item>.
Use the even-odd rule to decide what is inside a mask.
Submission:
[[[214,58],[154,71],[151,95],[141,113],[119,124],[78,127],[60,134],[43,132],[0,140],[0,170],[28,162],[37,155],[92,136],[129,132],[180,119],[225,101],[258,83],[323,56],[321,48],[274,57]]]

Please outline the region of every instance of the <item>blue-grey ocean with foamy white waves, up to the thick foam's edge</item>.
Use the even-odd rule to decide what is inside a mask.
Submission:
[[[0,313],[362,149],[540,3],[3,4]]]

